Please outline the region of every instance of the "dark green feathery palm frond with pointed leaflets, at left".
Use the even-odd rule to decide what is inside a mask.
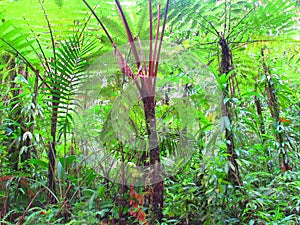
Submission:
[[[58,109],[57,117],[62,129],[68,129],[72,122],[71,113],[78,105],[74,96],[80,94],[84,71],[89,65],[88,58],[95,52],[96,46],[95,41],[85,42],[75,35],[60,44],[56,61],[50,63],[52,70],[46,80],[50,88],[46,90],[55,97],[49,101],[52,107]]]

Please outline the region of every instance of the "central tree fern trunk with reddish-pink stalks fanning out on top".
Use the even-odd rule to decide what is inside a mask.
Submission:
[[[153,35],[153,13],[152,13],[152,1],[149,0],[149,59],[146,60],[145,54],[140,55],[137,51],[137,45],[135,44],[135,38],[131,32],[131,29],[129,27],[129,24],[127,22],[127,19],[125,17],[125,14],[122,10],[120,1],[115,0],[116,7],[118,9],[119,15],[122,19],[124,28],[126,30],[127,39],[130,43],[131,51],[135,59],[135,63],[138,69],[138,73],[134,74],[131,70],[130,66],[127,64],[126,60],[124,59],[123,55],[119,51],[117,45],[115,44],[112,36],[100,20],[100,18],[96,15],[94,10],[89,6],[86,0],[83,0],[83,2],[87,5],[87,7],[91,10],[93,15],[96,17],[97,21],[99,22],[100,26],[106,33],[106,36],[109,38],[111,44],[113,45],[115,49],[115,53],[118,56],[118,63],[120,65],[121,71],[124,75],[127,75],[129,78],[133,79],[140,91],[142,101],[144,104],[144,114],[145,114],[145,120],[146,120],[146,129],[147,134],[149,138],[149,164],[150,164],[150,178],[151,178],[151,184],[146,189],[148,189],[149,192],[149,211],[150,216],[148,219],[148,224],[154,225],[157,223],[157,221],[162,221],[162,208],[163,208],[163,189],[164,189],[164,183],[162,180],[162,166],[161,166],[161,160],[160,160],[160,149],[158,145],[158,137],[157,137],[157,131],[156,131],[156,116],[155,116],[155,85],[156,85],[156,76],[158,72],[158,65],[159,65],[159,58],[160,58],[160,52],[162,47],[162,41],[164,37],[165,32],[165,26],[167,21],[167,14],[168,14],[168,8],[169,8],[169,2],[170,0],[167,0],[166,2],[166,8],[164,12],[164,18],[163,18],[163,24],[161,26],[161,13],[160,13],[160,4],[158,4],[158,13],[157,13],[157,26],[156,26],[156,34],[155,39]],[[160,32],[160,28],[161,32]],[[137,40],[139,38],[137,37]],[[152,45],[154,41],[154,45]],[[139,43],[140,50],[143,52],[141,48],[141,43]],[[154,48],[153,48],[154,47]],[[144,64],[144,67],[141,66]],[[148,70],[146,69],[146,64],[148,65]],[[143,71],[144,69],[144,71]],[[141,78],[142,88],[138,84],[138,79]],[[148,78],[154,78],[148,79]],[[146,78],[146,79],[144,79]],[[150,82],[147,82],[150,81]],[[153,83],[152,83],[153,81]],[[146,88],[145,88],[146,87]],[[148,88],[147,88],[148,87]],[[153,92],[153,93],[152,93]],[[140,164],[147,165],[147,154],[143,153],[141,156]]]

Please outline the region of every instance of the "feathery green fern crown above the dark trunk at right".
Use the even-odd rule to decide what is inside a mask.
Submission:
[[[183,35],[210,33],[205,42],[223,36],[228,41],[248,41],[255,35],[279,35],[295,24],[294,1],[182,0],[171,5],[171,27]],[[181,10],[179,11],[178,8]],[[204,42],[204,41],[203,41]]]

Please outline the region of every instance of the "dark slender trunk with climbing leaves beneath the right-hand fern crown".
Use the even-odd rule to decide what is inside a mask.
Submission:
[[[221,38],[219,44],[222,48],[222,59],[220,67],[220,75],[229,74],[233,70],[233,62],[230,48],[228,46],[227,40]],[[230,85],[231,84],[231,85]],[[231,86],[231,89],[229,88]],[[234,74],[231,74],[226,88],[223,90],[223,100],[222,100],[222,117],[224,117],[228,123],[225,126],[225,139],[226,146],[229,156],[228,161],[232,164],[233,168],[229,166],[228,170],[228,180],[235,186],[241,186],[241,178],[239,173],[239,167],[237,164],[237,154],[235,152],[234,136],[232,132],[232,103],[231,101],[224,102],[225,99],[231,98],[234,94]]]

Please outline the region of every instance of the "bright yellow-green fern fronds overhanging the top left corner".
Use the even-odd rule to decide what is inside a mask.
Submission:
[[[20,7],[21,5],[22,7]],[[53,27],[53,37],[56,42],[66,40],[74,32],[80,31],[83,31],[86,35],[94,36],[93,31],[97,28],[96,21],[89,19],[90,13],[87,12],[84,4],[80,4],[77,0],[1,1],[0,8],[2,11],[1,19],[10,22],[12,25],[11,29],[14,28],[15,33],[26,35],[29,40],[38,38],[47,56],[47,52],[52,50],[52,48],[45,14]],[[16,32],[17,30],[18,32]]]

